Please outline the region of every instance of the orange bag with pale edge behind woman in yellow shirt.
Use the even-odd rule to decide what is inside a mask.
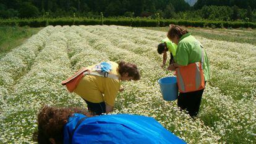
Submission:
[[[62,85],[66,85],[67,90],[69,90],[70,93],[72,93],[77,85],[79,84],[79,81],[83,77],[83,72],[87,71],[88,69],[86,67],[83,67],[78,72],[76,72],[72,77],[67,78],[67,80],[64,80],[61,82]]]

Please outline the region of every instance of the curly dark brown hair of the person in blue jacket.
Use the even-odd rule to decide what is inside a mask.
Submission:
[[[51,143],[49,138],[53,138],[56,143],[63,143],[63,127],[74,113],[88,114],[86,109],[43,106],[37,116],[38,130],[33,133],[33,140],[39,144]]]

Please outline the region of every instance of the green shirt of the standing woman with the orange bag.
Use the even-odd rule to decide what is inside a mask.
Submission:
[[[190,33],[186,33],[181,36],[181,40],[179,40],[179,43],[177,44],[176,57],[174,57],[174,61],[181,66],[187,66],[194,62],[201,62],[201,46],[202,44],[195,39],[194,36],[190,35]],[[205,76],[205,81],[207,81],[210,78],[210,67],[205,49],[203,49],[203,53],[203,74]]]

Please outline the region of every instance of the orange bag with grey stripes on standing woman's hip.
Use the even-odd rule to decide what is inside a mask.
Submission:
[[[195,62],[176,69],[179,92],[187,93],[205,88],[202,64]]]

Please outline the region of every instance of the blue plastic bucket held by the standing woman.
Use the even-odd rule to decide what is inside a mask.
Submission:
[[[177,78],[163,77],[158,80],[163,95],[163,100],[174,101],[178,96]]]

